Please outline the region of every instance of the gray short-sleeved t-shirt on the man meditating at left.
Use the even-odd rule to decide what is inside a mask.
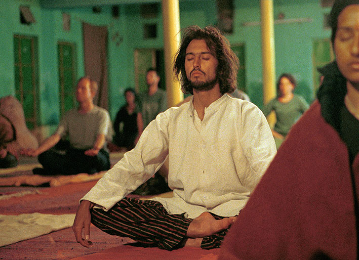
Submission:
[[[95,106],[86,114],[71,109],[61,118],[56,133],[61,137],[68,135],[70,145],[76,149],[90,149],[97,136],[111,134],[111,120],[107,110]]]

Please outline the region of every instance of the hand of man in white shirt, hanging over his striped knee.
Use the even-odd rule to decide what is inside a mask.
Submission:
[[[77,243],[85,247],[90,247],[92,242],[90,239],[90,225],[91,225],[91,214],[90,208],[93,206],[93,203],[88,200],[81,201],[80,205],[77,208],[75,220],[73,221],[72,231],[75,234]],[[82,235],[82,230],[84,229],[84,237]]]

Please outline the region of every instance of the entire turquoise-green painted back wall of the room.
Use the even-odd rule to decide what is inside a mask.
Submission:
[[[252,101],[263,106],[261,33],[260,26],[243,26],[244,22],[260,21],[259,1],[234,0],[234,31],[226,35],[232,45],[244,44],[246,57],[247,92]],[[312,42],[315,39],[329,38],[330,30],[323,29],[323,9],[320,1],[290,1],[290,4],[274,6],[274,16],[284,13],[286,19],[311,18],[311,22],[276,24],[275,64],[276,76],[289,72],[296,76],[296,93],[308,102],[313,99]],[[286,2],[288,3],[288,2]],[[19,6],[27,5],[36,19],[30,26],[20,24]],[[71,16],[71,30],[62,29],[62,12]],[[110,6],[102,8],[101,14],[93,14],[91,8],[43,9],[38,0],[0,1],[0,97],[14,95],[13,35],[36,36],[38,40],[39,102],[40,122],[55,125],[59,120],[59,91],[57,68],[57,42],[70,41],[76,45],[77,76],[84,75],[82,21],[94,25],[108,25],[108,83],[109,112],[114,118],[118,108],[124,103],[123,91],[134,87],[134,50],[137,48],[163,48],[162,10],[157,18],[143,19],[140,5],[121,5],[119,17],[112,18]],[[216,24],[215,0],[180,1],[181,28],[192,24],[201,27]],[[144,24],[156,23],[157,38],[143,39]],[[113,35],[118,32],[122,41],[116,45]]]

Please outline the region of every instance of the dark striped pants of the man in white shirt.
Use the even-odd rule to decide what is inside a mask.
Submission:
[[[217,220],[223,218],[212,215]],[[183,246],[192,220],[184,214],[169,214],[157,201],[124,198],[108,211],[91,209],[91,222],[110,235],[129,237],[142,246],[173,250]],[[201,247],[220,247],[227,231],[203,238]]]

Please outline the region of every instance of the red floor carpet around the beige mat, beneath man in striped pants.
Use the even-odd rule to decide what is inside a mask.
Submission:
[[[0,200],[2,214],[20,213],[75,213],[78,200],[94,185],[94,182],[69,184],[60,187],[39,189],[39,194]],[[134,196],[132,197],[139,197]],[[186,247],[174,251],[158,248],[123,246],[124,238],[110,236],[91,226],[91,240],[94,245],[85,248],[74,239],[71,228],[41,237],[18,242],[0,248],[0,259],[217,259],[218,249],[203,250]],[[120,246],[119,246],[120,245]]]

